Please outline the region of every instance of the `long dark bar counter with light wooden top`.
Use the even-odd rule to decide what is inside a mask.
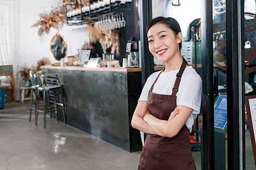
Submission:
[[[140,133],[131,127],[142,91],[141,68],[42,66],[42,71],[57,74],[63,84],[68,125],[124,150],[141,150]]]

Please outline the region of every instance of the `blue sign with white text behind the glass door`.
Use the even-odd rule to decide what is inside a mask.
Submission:
[[[214,127],[224,130],[227,121],[227,102],[226,95],[218,96],[214,104]]]

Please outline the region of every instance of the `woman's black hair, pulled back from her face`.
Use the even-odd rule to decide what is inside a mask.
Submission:
[[[174,19],[174,18],[171,18],[171,17],[168,17],[168,18],[165,18],[163,16],[158,16],[154,19],[152,19],[148,24],[147,24],[147,28],[146,28],[146,37],[147,37],[147,32],[148,30],[155,24],[157,23],[162,23],[164,25],[166,25],[166,27],[170,28],[173,32],[174,32],[174,35],[177,36],[177,34],[179,32],[181,32],[181,29],[180,29],[180,25],[179,23]],[[182,40],[180,41],[179,43],[179,49],[181,49],[181,42]],[[184,57],[183,58],[183,61],[188,65],[188,62],[185,60]]]

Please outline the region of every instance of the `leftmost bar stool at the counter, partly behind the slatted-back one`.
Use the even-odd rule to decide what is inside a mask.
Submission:
[[[37,96],[37,89],[38,89],[38,85],[36,85],[36,75],[33,73],[33,71],[30,71],[29,73],[29,77],[30,77],[30,81],[31,81],[31,88],[30,88],[30,121],[31,121],[31,113],[32,113],[32,109],[35,109],[35,113],[36,113],[36,96]],[[35,120],[36,123],[36,120]]]

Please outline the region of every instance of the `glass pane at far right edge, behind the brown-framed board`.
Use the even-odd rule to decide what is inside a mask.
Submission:
[[[245,0],[244,7],[244,30],[245,37],[242,46],[245,50],[245,96],[256,95],[256,27],[255,27],[255,14],[256,2],[255,0]],[[250,127],[245,114],[245,165],[246,169],[255,169],[255,158],[253,154],[253,147],[250,135]]]

